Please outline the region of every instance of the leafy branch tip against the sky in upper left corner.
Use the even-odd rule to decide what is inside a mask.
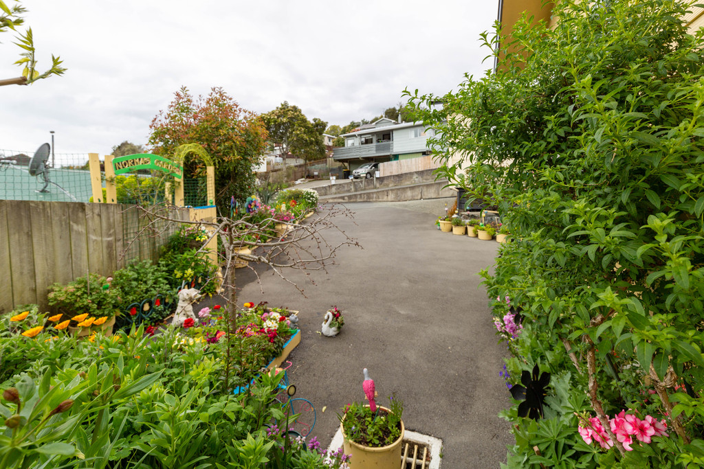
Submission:
[[[32,28],[28,27],[25,32],[18,31],[18,27],[25,23],[23,15],[27,13],[27,9],[20,4],[19,0],[15,0],[11,6],[0,0],[0,33],[9,30],[17,33],[15,42],[23,53],[20,53],[20,59],[15,62],[15,65],[23,67],[22,76],[11,79],[0,79],[0,86],[5,84],[31,84],[37,80],[50,77],[51,75],[62,75],[65,68],[61,67],[62,60],[51,56],[51,68],[46,72],[40,73],[37,70],[37,60],[34,58],[34,37],[32,37]]]

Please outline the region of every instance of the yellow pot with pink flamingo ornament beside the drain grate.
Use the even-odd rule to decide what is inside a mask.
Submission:
[[[400,465],[405,432],[401,420],[403,401],[392,396],[389,407],[377,406],[374,381],[368,379],[367,368],[364,371],[363,388],[369,405],[353,403],[338,415],[344,453],[351,456],[351,469],[396,468]]]

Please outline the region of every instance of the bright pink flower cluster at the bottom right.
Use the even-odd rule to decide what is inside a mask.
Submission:
[[[616,439],[623,444],[626,451],[633,451],[631,444],[634,443],[633,437],[641,443],[650,443],[650,437],[668,437],[667,423],[665,419],[656,420],[651,416],[646,416],[641,420],[634,415],[626,415],[626,411],[620,411],[614,418],[609,419],[611,432],[616,436]],[[609,449],[613,446],[613,442],[605,432],[603,425],[596,417],[589,418],[589,427],[584,428],[579,426],[579,435],[586,444],[591,444],[596,441],[603,449]]]

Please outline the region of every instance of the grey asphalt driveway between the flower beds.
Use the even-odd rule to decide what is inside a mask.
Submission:
[[[445,202],[346,205],[355,217],[337,224],[363,249],[339,251],[327,274],[287,272],[307,297],[261,266],[262,285],[249,269],[237,271],[240,307],[267,301],[301,311],[302,340],[289,356],[289,378],[296,397],[317,409],[310,437],[323,447],[339,428],[337,413],[364,401],[366,367],[379,404],[388,405],[395,393],[404,401],[408,430],[443,440],[441,467],[505,462],[513,438],[497,413],[510,399],[498,373],[508,351],[498,344],[477,275],[494,264],[498,244],[438,231],[434,220]],[[345,326],[326,338],[318,331],[332,305],[343,311]]]

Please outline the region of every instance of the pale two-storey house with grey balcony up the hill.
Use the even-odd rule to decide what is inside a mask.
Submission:
[[[344,147],[335,147],[332,158],[355,169],[366,162],[408,160],[429,155],[427,139],[432,129],[422,122],[396,122],[382,119],[342,134]]]

